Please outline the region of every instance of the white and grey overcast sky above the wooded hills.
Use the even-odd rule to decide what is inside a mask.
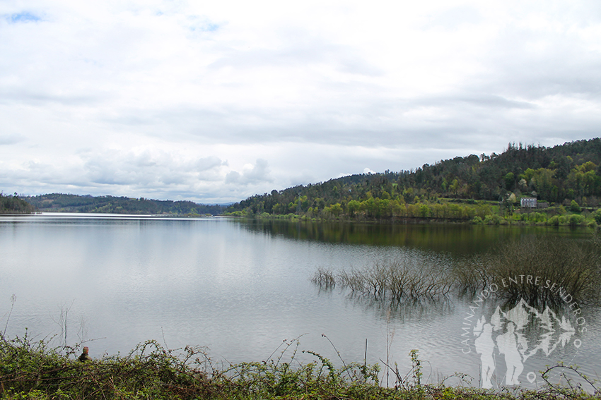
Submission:
[[[0,1],[0,190],[215,203],[600,136],[601,2]]]

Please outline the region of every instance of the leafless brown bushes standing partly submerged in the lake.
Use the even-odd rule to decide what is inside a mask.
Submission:
[[[350,271],[320,268],[313,283],[329,289],[339,286],[376,301],[474,294],[494,283],[499,287],[497,294],[508,301],[524,298],[552,305],[573,298],[580,303],[595,303],[601,300],[600,248],[591,242],[532,236],[452,262],[450,267],[394,259]]]

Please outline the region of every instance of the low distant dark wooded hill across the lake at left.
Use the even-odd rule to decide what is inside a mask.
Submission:
[[[226,206],[202,205],[191,201],[150,200],[115,196],[69,195],[50,193],[23,197],[42,212],[101,212],[113,214],[212,214]]]

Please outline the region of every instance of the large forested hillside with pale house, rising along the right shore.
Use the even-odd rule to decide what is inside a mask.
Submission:
[[[255,195],[228,208],[234,215],[307,217],[484,218],[521,197],[550,205],[598,207],[601,139],[555,147],[510,144],[501,154],[468,155],[411,171],[360,174]],[[445,200],[444,200],[445,199]],[[573,200],[573,201],[572,201]],[[467,210],[461,203],[472,203]]]

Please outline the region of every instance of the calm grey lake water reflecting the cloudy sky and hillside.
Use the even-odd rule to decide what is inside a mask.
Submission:
[[[409,351],[419,349],[424,378],[430,382],[465,372],[479,386],[481,358],[473,347],[473,324],[467,335],[471,348],[462,343],[472,298],[450,296],[391,310],[339,288],[320,289],[310,279],[318,267],[358,269],[394,257],[445,268],[503,241],[532,235],[586,241],[590,231],[98,214],[4,216],[0,329],[6,325],[6,334],[13,337],[27,327],[39,339],[56,335],[53,343],[60,344],[61,315],[68,310],[68,344],[88,341],[94,358],[129,353],[136,344],[157,339],[170,349],[206,346],[209,356],[222,363],[265,360],[284,340],[296,338],[299,350],[341,363],[334,344],[346,363],[363,363],[367,339],[368,363],[388,360],[409,372]],[[16,301],[9,317],[12,295]],[[496,305],[491,298],[482,309],[492,315]],[[549,355],[539,351],[524,361],[523,384],[529,385],[530,377],[535,378],[530,386],[539,384],[537,371],[560,359],[593,377],[601,375],[601,313],[581,309],[585,320],[580,322],[585,323],[578,325],[574,318],[572,325],[586,327],[585,332],[573,332],[563,345],[557,342]],[[288,356],[291,351],[284,358]],[[503,383],[503,356],[498,351],[494,356],[496,380]],[[315,360],[300,351],[296,357]]]

